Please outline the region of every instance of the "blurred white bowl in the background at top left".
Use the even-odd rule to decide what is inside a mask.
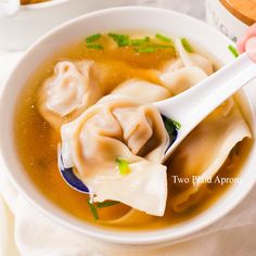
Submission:
[[[25,50],[43,34],[71,18],[126,2],[127,0],[51,0],[21,5],[15,15],[0,18],[0,49]]]

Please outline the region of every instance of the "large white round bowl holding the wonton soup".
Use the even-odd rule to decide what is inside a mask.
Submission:
[[[150,29],[166,35],[187,37],[214,53],[223,63],[233,59],[232,54],[228,51],[228,46],[232,42],[219,31],[197,20],[171,11],[152,8],[118,8],[94,12],[76,18],[54,29],[35,43],[22,57],[9,78],[0,101],[0,155],[18,191],[46,215],[53,218],[56,222],[63,223],[65,227],[79,231],[86,235],[113,243],[155,244],[170,241],[174,242],[209,226],[234,208],[249,192],[256,180],[255,144],[253,144],[240,175],[243,182],[233,184],[216,204],[201,215],[193,217],[183,223],[162,230],[140,232],[105,230],[82,222],[64,213],[39,193],[20,164],[15,151],[13,136],[14,110],[17,97],[34,69],[47,56],[51,56],[60,47],[76,40],[81,40],[85,36],[98,31],[118,29]],[[254,135],[255,118],[252,114],[248,100],[243,92],[240,93],[239,98],[241,107]]]

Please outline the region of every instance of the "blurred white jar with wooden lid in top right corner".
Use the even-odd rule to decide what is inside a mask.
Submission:
[[[207,23],[236,41],[256,21],[256,2],[244,0],[206,0]]]

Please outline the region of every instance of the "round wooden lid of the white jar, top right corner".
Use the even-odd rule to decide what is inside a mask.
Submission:
[[[236,18],[247,25],[256,22],[256,0],[220,0]]]

